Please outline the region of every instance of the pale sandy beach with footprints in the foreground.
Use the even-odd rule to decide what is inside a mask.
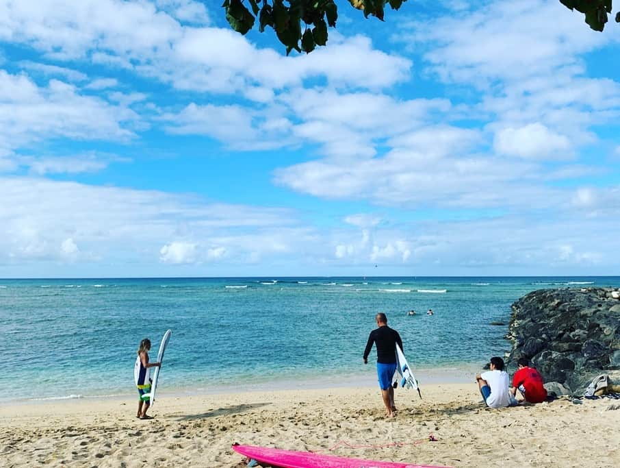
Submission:
[[[394,419],[370,387],[162,394],[148,421],[131,398],[1,406],[0,465],[243,467],[235,442],[451,467],[620,465],[617,400],[492,410],[473,382],[422,390],[397,391]]]

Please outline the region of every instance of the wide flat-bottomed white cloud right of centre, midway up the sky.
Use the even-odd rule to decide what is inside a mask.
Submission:
[[[392,144],[402,147],[385,156],[302,162],[276,171],[275,181],[326,199],[410,208],[531,206],[540,193],[527,184],[541,177],[541,169],[472,153],[477,136],[454,127],[424,127],[395,138]],[[552,203],[558,196],[545,192],[534,204]]]

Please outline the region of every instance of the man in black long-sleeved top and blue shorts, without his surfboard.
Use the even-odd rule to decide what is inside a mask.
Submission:
[[[368,364],[368,355],[372,349],[372,344],[375,343],[377,348],[377,376],[383,404],[385,404],[387,416],[394,417],[396,406],[394,405],[392,378],[396,372],[396,343],[402,349],[402,340],[396,330],[387,326],[387,317],[383,312],[379,312],[375,320],[377,328],[372,330],[368,336],[364,350],[364,364]]]

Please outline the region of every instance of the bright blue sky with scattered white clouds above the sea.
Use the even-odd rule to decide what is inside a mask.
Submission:
[[[220,5],[0,0],[0,278],[619,274],[612,19],[338,0],[287,57]]]

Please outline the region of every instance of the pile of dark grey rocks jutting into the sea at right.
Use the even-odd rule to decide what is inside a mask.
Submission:
[[[530,359],[549,389],[582,394],[602,373],[620,383],[620,289],[541,289],[512,305],[508,369]]]

